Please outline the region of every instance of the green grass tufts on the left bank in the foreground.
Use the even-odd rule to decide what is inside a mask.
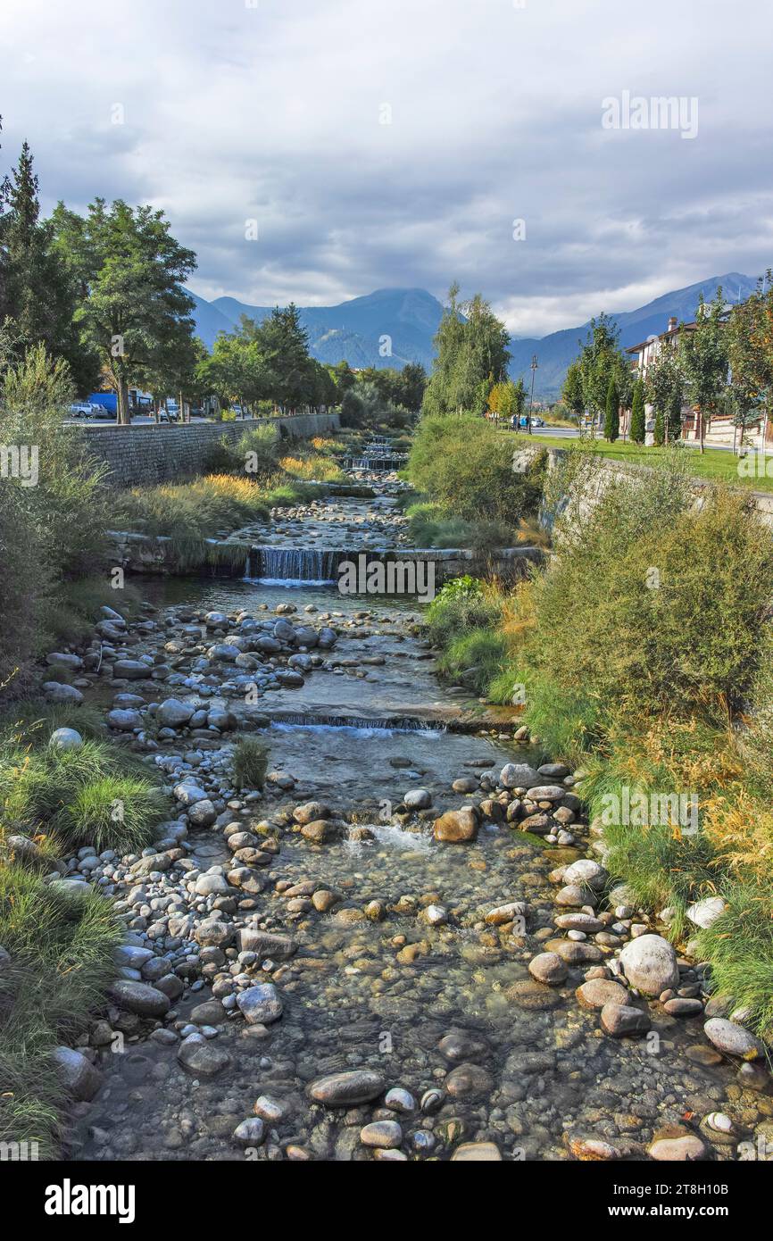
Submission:
[[[83,745],[51,745],[57,727]],[[47,876],[87,845],[141,850],[166,813],[148,768],[102,735],[86,707],[29,702],[0,719],[0,1140],[37,1142],[40,1158],[57,1153],[67,1102],[53,1049],[103,1003],[122,938],[109,901]]]

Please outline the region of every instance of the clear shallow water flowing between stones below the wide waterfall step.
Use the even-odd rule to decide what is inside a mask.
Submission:
[[[548,872],[579,856],[577,849],[551,848],[506,824],[484,828],[471,844],[432,839],[434,815],[465,802],[452,781],[535,756],[498,737],[418,727],[426,725],[422,707],[467,699],[440,686],[426,647],[409,632],[419,616],[414,604],[216,580],[154,582],[145,594],[160,609],[192,604],[258,618],[266,616],[259,604],[270,614],[285,602],[299,612],[313,603],[346,617],[369,613],[360,630],[341,637],[329,668],[261,704],[272,716],[294,716],[278,719],[266,740],[272,767],[298,783],[270,804],[258,800],[254,812],[275,818],[319,798],[354,810],[349,818],[372,833],[357,839],[352,825],[345,839],[323,846],[282,835],[256,897],[261,925],[299,944],[292,959],[272,963],[280,1020],[215,1023],[211,1037],[230,1059],[212,1080],[186,1072],[171,1042],[139,1039],[122,1055],[103,1054],[105,1083],[72,1134],[78,1158],[243,1159],[232,1134],[259,1096],[279,1101],[282,1114],[266,1122],[264,1140],[251,1148],[257,1159],[370,1159],[360,1131],[387,1117],[402,1124],[400,1150],[411,1159],[448,1159],[463,1142],[494,1143],[505,1159],[566,1159],[566,1134],[593,1136],[623,1157],[641,1158],[655,1134],[685,1118],[726,1112],[742,1133],[771,1116],[769,1096],[747,1088],[737,1064],[702,1062],[715,1057],[701,1054],[710,1049],[700,1019],[659,1009],[656,1037],[612,1039],[598,1013],[574,998],[586,965],[571,968],[561,987],[531,980],[529,961],[558,933],[551,930],[560,911]],[[364,655],[385,661],[362,665]],[[351,666],[336,671],[335,660],[347,659]],[[385,716],[404,726],[380,726]],[[331,726],[330,719],[366,726]],[[434,805],[406,829],[388,820],[412,787],[429,789]],[[228,859],[216,829],[189,844],[202,870]],[[305,881],[336,892],[339,902],[328,912],[309,901],[290,910],[298,902],[282,887]],[[529,903],[525,934],[503,936],[484,922],[493,906],[515,900]],[[380,903],[380,920],[365,912],[369,902]],[[429,906],[447,911],[445,925],[429,923]],[[179,1020],[208,998],[207,985],[186,990],[175,1004]],[[396,1114],[378,1102],[330,1109],[309,1100],[309,1082],[352,1069],[376,1070],[386,1088],[408,1091],[417,1107]],[[718,1140],[710,1154],[738,1157]]]

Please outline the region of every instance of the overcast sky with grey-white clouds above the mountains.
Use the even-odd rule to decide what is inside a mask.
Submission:
[[[206,298],[455,278],[543,335],[773,263],[772,45],[769,0],[2,0],[0,164],[163,207]]]

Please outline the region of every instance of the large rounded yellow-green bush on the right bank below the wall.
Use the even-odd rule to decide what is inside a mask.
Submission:
[[[679,478],[653,470],[571,516],[535,583],[536,670],[602,712],[738,709],[773,581],[773,537],[743,499],[707,490],[695,509]]]

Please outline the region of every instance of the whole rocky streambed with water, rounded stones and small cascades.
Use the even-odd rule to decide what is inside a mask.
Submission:
[[[127,926],[61,1052],[69,1157],[771,1158],[763,1049],[614,886],[581,773],[440,685],[414,601],[298,571],[402,544],[393,477],[359,464],[375,500],[262,532],[303,555],[145,580],[76,668],[175,809],[141,855],[83,849],[60,880]],[[236,787],[243,735],[262,789]]]

